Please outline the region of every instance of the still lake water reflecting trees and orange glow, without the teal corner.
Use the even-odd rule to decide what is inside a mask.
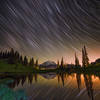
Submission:
[[[14,80],[6,84],[8,88],[14,92],[22,90],[27,100],[100,100],[100,77],[95,75],[47,73],[6,78]],[[23,97],[15,100],[26,100]]]

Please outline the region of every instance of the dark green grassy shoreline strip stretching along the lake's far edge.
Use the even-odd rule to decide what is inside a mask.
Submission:
[[[96,66],[90,65],[86,68],[58,68],[58,69],[48,69],[48,70],[40,70],[34,69],[30,66],[24,66],[22,64],[8,64],[4,60],[0,60],[0,74],[2,73],[48,73],[48,72],[67,72],[67,73],[86,73],[86,74],[100,74],[100,64]]]

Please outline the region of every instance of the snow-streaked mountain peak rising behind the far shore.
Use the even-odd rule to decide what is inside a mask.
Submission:
[[[57,68],[57,64],[54,61],[46,61],[42,63],[39,67],[46,68],[46,69],[54,69]]]

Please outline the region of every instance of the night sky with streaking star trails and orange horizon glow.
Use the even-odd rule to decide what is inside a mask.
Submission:
[[[71,63],[84,45],[90,61],[100,57],[99,0],[0,0],[1,49]]]

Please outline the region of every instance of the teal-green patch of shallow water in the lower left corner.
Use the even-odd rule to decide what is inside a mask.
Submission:
[[[24,89],[13,90],[19,83],[19,78],[9,79],[0,84],[0,100],[28,100]]]

